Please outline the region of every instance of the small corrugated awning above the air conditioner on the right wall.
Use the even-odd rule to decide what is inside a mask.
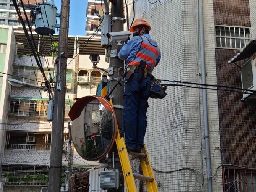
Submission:
[[[228,61],[228,64],[250,58],[254,53],[256,53],[256,38],[251,39],[234,58]]]

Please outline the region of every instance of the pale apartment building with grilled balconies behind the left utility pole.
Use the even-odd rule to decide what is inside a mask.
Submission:
[[[57,36],[53,36],[58,39]],[[100,54],[99,66],[107,68],[104,53],[100,48],[100,38],[94,38],[84,47],[88,36],[70,36],[68,38],[68,66],[66,79],[66,102],[64,139],[68,140],[68,112],[75,98],[96,94],[97,83],[100,81],[100,70],[92,69],[89,55]],[[23,86],[11,86],[8,78],[18,79],[39,86],[43,82],[42,73],[37,68],[24,32],[13,30],[13,27],[0,28],[0,74],[1,89],[1,147],[0,147],[0,182],[6,192],[46,190],[49,174],[50,144],[52,125],[46,120],[49,96],[44,90]],[[49,53],[53,39],[45,39],[34,33],[37,50],[42,55],[41,62],[48,79],[55,73],[55,57]],[[79,54],[78,54],[79,53]],[[4,62],[2,62],[4,61]],[[79,81],[79,82],[78,82]],[[66,143],[63,146],[62,186],[65,185]],[[78,153],[71,150],[73,173],[85,171],[98,162],[83,160]]]

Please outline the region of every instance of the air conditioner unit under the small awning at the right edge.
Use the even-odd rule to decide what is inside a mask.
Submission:
[[[242,88],[256,91],[256,54],[247,60],[241,66]],[[246,91],[245,91],[246,92]],[[248,92],[251,93],[251,92]],[[243,100],[247,98],[256,98],[250,94],[244,93]]]

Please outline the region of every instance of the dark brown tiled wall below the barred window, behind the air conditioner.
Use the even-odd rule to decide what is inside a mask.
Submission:
[[[228,60],[238,51],[216,49],[217,84],[241,87],[241,72]],[[241,102],[242,94],[218,91],[220,144],[224,162],[256,168],[255,105]]]

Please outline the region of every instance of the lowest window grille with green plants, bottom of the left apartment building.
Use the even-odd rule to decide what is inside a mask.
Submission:
[[[65,184],[65,171],[66,167],[62,167],[62,185]],[[49,166],[2,165],[1,177],[3,184],[8,186],[47,186]]]

